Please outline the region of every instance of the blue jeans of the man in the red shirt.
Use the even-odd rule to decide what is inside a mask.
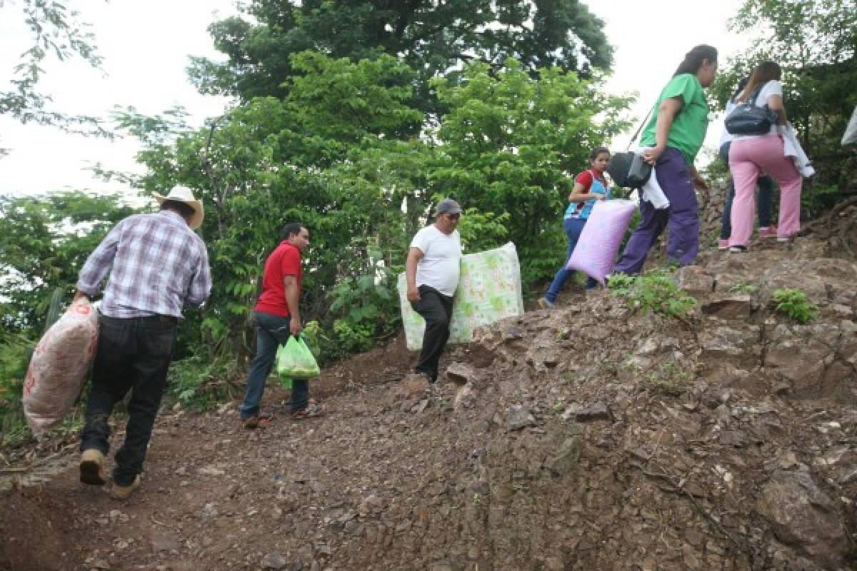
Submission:
[[[281,318],[266,312],[255,312],[256,320],[256,356],[247,377],[247,392],[238,411],[242,419],[259,414],[259,403],[265,392],[265,381],[271,374],[273,361],[277,357],[277,348],[285,345],[291,332],[291,318]],[[303,410],[309,403],[309,381],[294,379],[291,381],[291,410]]]

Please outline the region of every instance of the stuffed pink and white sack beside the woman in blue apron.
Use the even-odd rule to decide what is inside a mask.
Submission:
[[[635,210],[637,203],[632,200],[596,202],[566,269],[582,271],[603,285],[616,264],[616,253]]]

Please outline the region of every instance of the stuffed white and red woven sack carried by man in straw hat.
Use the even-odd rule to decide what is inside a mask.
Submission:
[[[63,419],[93,362],[99,336],[98,311],[78,301],[51,325],[33,351],[24,382],[24,415],[39,436]]]

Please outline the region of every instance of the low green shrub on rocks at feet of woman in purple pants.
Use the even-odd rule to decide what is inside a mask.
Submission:
[[[686,318],[697,304],[664,271],[649,271],[642,276],[614,274],[608,287],[612,294],[626,298],[632,307],[669,318]]]

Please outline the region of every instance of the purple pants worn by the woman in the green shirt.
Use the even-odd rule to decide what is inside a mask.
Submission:
[[[657,159],[655,174],[669,200],[669,207],[656,210],[650,202],[640,201],[640,224],[616,264],[616,272],[638,274],[664,228],[669,229],[667,257],[670,261],[689,265],[696,259],[699,251],[699,207],[684,155],[667,147]]]

